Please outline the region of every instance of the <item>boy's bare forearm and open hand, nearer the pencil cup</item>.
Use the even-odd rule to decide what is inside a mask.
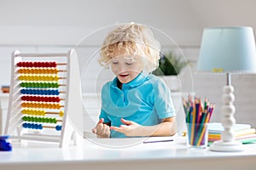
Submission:
[[[125,133],[126,136],[172,136],[177,133],[177,124],[175,117],[168,117],[158,125],[142,126],[136,122],[121,119],[125,125],[120,127],[110,127],[119,133]]]

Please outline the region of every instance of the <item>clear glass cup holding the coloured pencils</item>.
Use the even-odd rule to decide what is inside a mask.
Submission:
[[[189,149],[206,149],[208,144],[207,123],[187,123],[187,145]]]

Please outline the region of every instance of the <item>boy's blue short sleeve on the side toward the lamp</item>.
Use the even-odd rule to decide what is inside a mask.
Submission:
[[[176,116],[170,89],[161,80],[155,82],[154,108],[160,119]]]

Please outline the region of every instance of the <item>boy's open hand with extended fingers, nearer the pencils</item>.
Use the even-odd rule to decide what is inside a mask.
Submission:
[[[110,129],[119,133],[124,133],[125,136],[141,136],[142,126],[137,124],[137,122],[126,121],[123,118],[121,118],[121,122],[125,125],[121,125],[120,127],[110,127]]]

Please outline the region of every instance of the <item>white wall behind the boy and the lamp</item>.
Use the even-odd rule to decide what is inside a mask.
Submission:
[[[13,50],[66,52],[79,44],[76,49],[84,75],[83,91],[98,91],[112,77],[96,64],[95,53],[102,38],[116,22],[135,21],[151,26],[164,48],[175,44],[166,36],[177,42],[194,63],[190,68],[192,81],[188,71],[183,74],[183,91],[194,91],[215,102],[212,121],[220,121],[225,77],[195,74],[201,33],[207,26],[253,26],[256,30],[255,6],[253,0],[0,0],[0,84],[9,84]],[[236,88],[237,122],[256,127],[256,76],[236,75],[232,82]]]

